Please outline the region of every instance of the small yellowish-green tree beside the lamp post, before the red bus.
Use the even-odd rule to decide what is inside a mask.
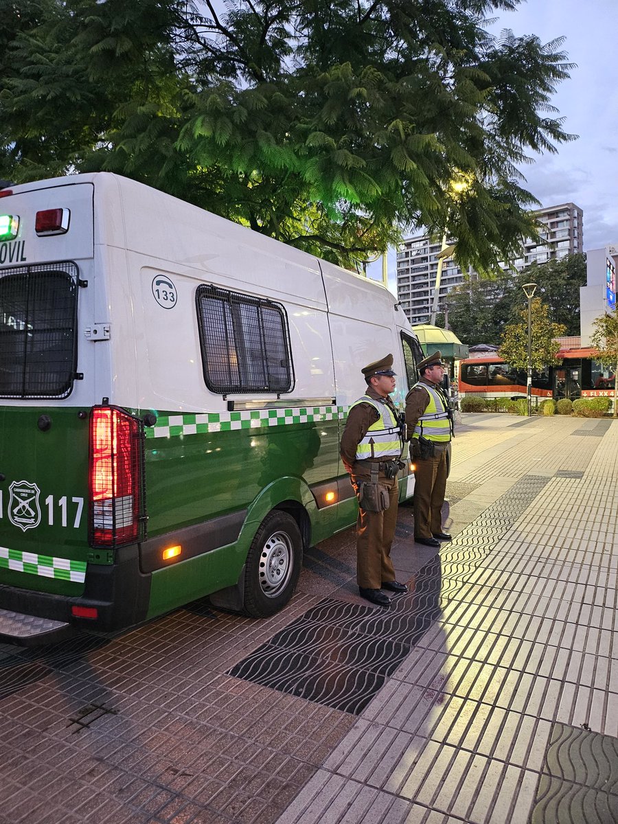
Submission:
[[[533,297],[531,302],[531,367],[543,369],[559,363],[556,355],[560,345],[556,338],[564,335],[564,325],[550,320],[548,307],[540,297]],[[502,344],[498,353],[500,358],[516,369],[527,369],[528,365],[528,310],[519,312],[522,320],[517,324],[508,324],[504,330]]]

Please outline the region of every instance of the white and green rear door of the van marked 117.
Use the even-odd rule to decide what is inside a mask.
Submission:
[[[39,186],[0,198],[0,608],[60,619],[90,551],[93,186]]]

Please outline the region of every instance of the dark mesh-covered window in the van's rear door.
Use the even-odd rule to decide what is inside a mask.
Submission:
[[[77,366],[77,266],[0,270],[0,397],[63,398]]]

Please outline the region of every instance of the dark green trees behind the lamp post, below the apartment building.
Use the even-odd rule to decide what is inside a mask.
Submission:
[[[579,287],[586,283],[586,255],[534,263],[496,279],[466,279],[447,297],[449,326],[463,343],[499,345],[505,327],[517,323],[522,307],[527,307],[524,283],[537,284],[537,296],[550,320],[564,325],[564,335],[579,334]]]

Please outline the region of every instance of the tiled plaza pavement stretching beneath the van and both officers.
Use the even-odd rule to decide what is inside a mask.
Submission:
[[[207,601],[0,645],[0,824],[616,824],[618,422],[464,415],[445,527],[358,597],[353,530],[269,620]]]

